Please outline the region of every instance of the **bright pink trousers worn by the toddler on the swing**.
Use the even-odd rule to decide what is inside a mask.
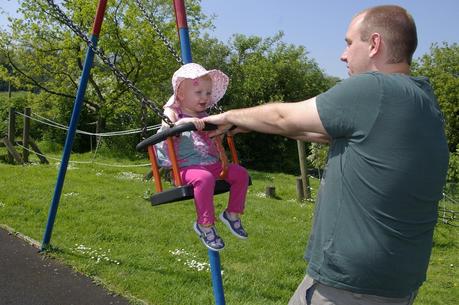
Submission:
[[[221,170],[221,163],[187,166],[180,170],[183,183],[193,185],[197,223],[199,224],[214,224],[215,222],[214,187]],[[244,167],[238,164],[228,164],[228,174],[225,180],[231,186],[226,211],[242,214],[249,186],[249,174]]]

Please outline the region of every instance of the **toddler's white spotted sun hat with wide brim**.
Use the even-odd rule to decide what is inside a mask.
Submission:
[[[225,95],[228,88],[229,77],[220,70],[206,70],[203,66],[195,63],[186,64],[175,71],[172,76],[172,88],[174,94],[169,98],[164,107],[171,107],[176,102],[177,89],[184,79],[196,79],[204,75],[209,75],[212,79],[212,93],[210,96],[210,105],[214,106]]]

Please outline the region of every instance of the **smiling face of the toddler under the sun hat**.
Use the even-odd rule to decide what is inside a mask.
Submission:
[[[209,76],[196,79],[185,79],[178,89],[178,100],[182,111],[197,116],[210,106],[212,80]]]

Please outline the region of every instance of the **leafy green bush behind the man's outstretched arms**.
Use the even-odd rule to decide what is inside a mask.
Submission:
[[[328,79],[302,46],[282,42],[283,33],[262,39],[234,35],[224,54],[224,71],[231,78],[221,101],[226,109],[273,101],[294,102],[328,89]],[[296,141],[281,136],[250,133],[236,137],[240,158],[250,168],[298,170]]]

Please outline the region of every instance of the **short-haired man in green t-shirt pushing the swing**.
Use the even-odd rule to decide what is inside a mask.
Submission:
[[[296,304],[412,304],[426,277],[448,166],[443,116],[426,78],[411,77],[416,26],[378,6],[351,21],[341,60],[350,77],[298,103],[205,119],[222,133],[329,142]]]

